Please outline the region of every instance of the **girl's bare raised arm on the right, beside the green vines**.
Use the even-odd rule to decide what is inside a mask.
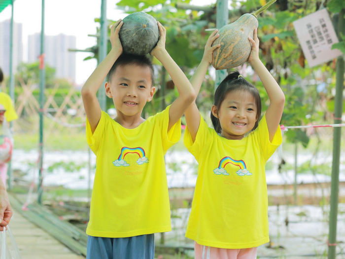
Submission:
[[[270,98],[270,106],[266,111],[267,127],[270,134],[270,141],[276,134],[276,129],[279,126],[281,115],[283,114],[285,96],[276,82],[276,79],[266,69],[265,65],[259,58],[259,39],[257,29],[254,30],[254,39],[248,37],[252,47],[248,58],[248,62],[254,69],[256,74],[259,75],[261,82],[263,83],[267,95]]]

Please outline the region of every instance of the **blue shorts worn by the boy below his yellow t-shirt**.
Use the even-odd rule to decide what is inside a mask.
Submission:
[[[87,237],[86,259],[154,259],[154,234],[132,237]]]

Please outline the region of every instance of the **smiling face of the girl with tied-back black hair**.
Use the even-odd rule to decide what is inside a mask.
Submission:
[[[255,98],[247,91],[237,90],[227,93],[219,109],[213,105],[211,111],[219,119],[222,137],[241,140],[258,120],[256,109]]]

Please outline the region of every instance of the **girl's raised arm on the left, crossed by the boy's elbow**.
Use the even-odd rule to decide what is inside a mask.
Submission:
[[[204,81],[205,75],[207,73],[207,69],[209,65],[212,63],[212,53],[216,48],[220,47],[220,44],[212,46],[213,41],[219,37],[219,34],[217,34],[218,30],[215,30],[207,39],[206,45],[205,45],[205,51],[203,59],[201,60],[197,70],[190,78],[190,82],[194,88],[194,91],[196,93],[196,96],[198,96],[198,93],[200,91],[200,87]],[[188,126],[188,130],[190,132],[190,135],[192,137],[193,142],[195,141],[195,137],[197,135],[199,124],[200,124],[200,113],[198,110],[198,107],[195,103],[195,100],[193,103],[187,108],[187,110],[184,112],[184,115],[186,117],[186,123]]]

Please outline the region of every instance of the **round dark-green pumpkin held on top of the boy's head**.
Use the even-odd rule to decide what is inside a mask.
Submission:
[[[119,37],[124,52],[146,55],[159,39],[157,21],[145,12],[131,13],[123,19]]]

